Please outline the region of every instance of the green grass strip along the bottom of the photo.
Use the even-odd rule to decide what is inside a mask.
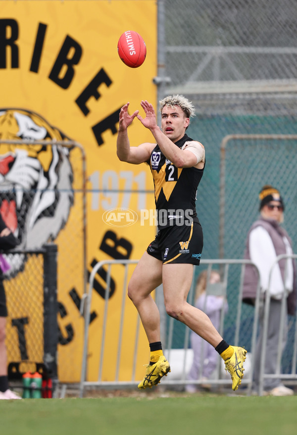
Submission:
[[[116,397],[0,402],[3,435],[295,435],[297,396]]]

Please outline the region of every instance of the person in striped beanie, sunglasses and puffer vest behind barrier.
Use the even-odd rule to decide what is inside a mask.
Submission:
[[[280,192],[271,185],[265,185],[259,194],[260,217],[251,225],[247,234],[245,259],[251,260],[260,273],[261,304],[259,313],[259,336],[257,338],[253,372],[253,389],[259,390],[261,349],[263,344],[264,299],[269,285],[269,318],[267,343],[265,344],[265,374],[276,374],[278,342],[281,334],[282,351],[287,342],[288,315],[296,312],[296,264],[293,259],[283,259],[275,263],[277,256],[292,255],[292,242],[287,231],[281,226],[284,220],[285,204]],[[286,272],[285,272],[286,271]],[[286,276],[285,276],[286,273]],[[258,277],[253,266],[247,265],[243,283],[243,302],[255,304]],[[285,290],[286,289],[286,290]],[[287,307],[284,328],[280,330],[282,297],[286,291]],[[275,396],[293,395],[280,379],[264,379],[264,392]]]

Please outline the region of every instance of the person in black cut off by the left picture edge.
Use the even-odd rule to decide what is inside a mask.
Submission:
[[[6,226],[0,215],[0,251],[15,248],[17,244],[17,239]],[[3,272],[6,272],[8,269],[8,262],[5,260],[5,257],[0,254],[0,399],[20,399],[21,397],[9,390],[8,387],[7,352],[5,346],[7,307],[3,286]]]

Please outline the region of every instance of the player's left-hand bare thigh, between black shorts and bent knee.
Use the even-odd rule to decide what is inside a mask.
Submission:
[[[128,293],[147,296],[162,283],[162,261],[144,253],[131,276]]]

